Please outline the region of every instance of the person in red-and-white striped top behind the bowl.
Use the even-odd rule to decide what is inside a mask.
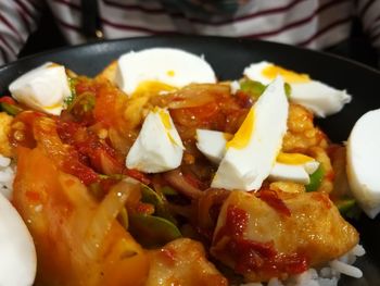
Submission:
[[[359,18],[380,51],[380,0],[1,0],[0,65],[17,58],[42,11],[67,42],[151,35],[263,39],[327,49]],[[49,40],[49,39],[46,39]]]

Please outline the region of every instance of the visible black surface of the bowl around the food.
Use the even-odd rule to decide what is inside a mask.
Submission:
[[[353,96],[353,101],[340,113],[318,121],[335,142],[346,140],[362,114],[380,108],[380,73],[376,70],[342,58],[287,45],[219,37],[134,38],[40,53],[0,67],[0,95],[8,92],[9,84],[17,76],[47,61],[61,63],[78,74],[93,76],[119,54],[149,47],[173,47],[204,54],[219,79],[239,78],[248,64],[267,60],[307,73],[335,88],[346,89]],[[340,285],[380,285],[380,220],[369,220],[363,214],[353,223],[367,250],[367,254],[356,262],[363,270],[364,277],[343,277]]]

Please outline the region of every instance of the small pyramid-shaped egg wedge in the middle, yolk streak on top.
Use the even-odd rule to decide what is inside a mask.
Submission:
[[[126,166],[144,173],[160,173],[180,165],[183,145],[166,109],[155,108],[130,148]]]

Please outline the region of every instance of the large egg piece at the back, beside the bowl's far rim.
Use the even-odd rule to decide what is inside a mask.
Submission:
[[[116,85],[125,94],[131,96],[147,82],[181,88],[189,84],[214,84],[216,76],[202,57],[179,49],[131,51],[118,59]]]

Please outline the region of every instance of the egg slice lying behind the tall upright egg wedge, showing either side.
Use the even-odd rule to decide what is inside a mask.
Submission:
[[[197,147],[213,163],[219,164],[226,152],[226,144],[230,134],[197,129]],[[282,153],[276,159],[276,163],[269,173],[271,181],[291,181],[307,185],[309,175],[319,166],[314,158],[302,153]]]

